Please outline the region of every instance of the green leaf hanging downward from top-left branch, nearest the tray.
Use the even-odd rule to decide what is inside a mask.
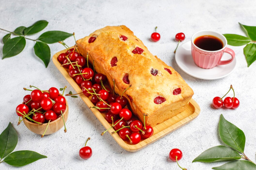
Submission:
[[[51,59],[50,47],[46,43],[36,42],[34,50],[35,54],[45,63],[45,67],[47,67]]]

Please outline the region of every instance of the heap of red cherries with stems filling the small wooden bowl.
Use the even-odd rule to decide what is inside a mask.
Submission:
[[[30,85],[31,87],[36,89],[23,88],[24,90],[31,91],[31,94],[24,96],[23,103],[16,107],[16,114],[19,116],[18,125],[25,118],[40,125],[48,123],[44,134],[41,135],[41,137],[44,137],[50,121],[54,121],[62,116],[65,126],[64,131],[67,132],[63,117],[63,112],[66,110],[66,99],[63,96],[66,86],[63,88],[62,95],[59,95],[59,90],[55,87],[51,87],[48,91],[42,91]],[[22,117],[21,120],[20,117]]]

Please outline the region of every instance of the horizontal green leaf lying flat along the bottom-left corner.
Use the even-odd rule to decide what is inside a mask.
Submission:
[[[34,151],[16,151],[6,156],[4,162],[13,166],[24,166],[42,158],[47,158],[47,156]]]

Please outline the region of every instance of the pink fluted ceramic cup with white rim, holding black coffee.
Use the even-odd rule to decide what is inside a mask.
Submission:
[[[217,51],[206,51],[198,48],[194,41],[197,37],[211,35],[218,37],[223,42],[223,48]],[[191,38],[191,53],[195,64],[198,67],[203,69],[211,69],[217,65],[225,65],[231,63],[235,58],[235,52],[230,48],[227,48],[227,39],[220,33],[215,31],[199,31],[196,32]],[[221,61],[221,58],[224,53],[229,53],[231,55],[231,59]]]

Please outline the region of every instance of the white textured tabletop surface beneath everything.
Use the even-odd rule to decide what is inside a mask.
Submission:
[[[252,5],[254,3],[254,5]],[[194,32],[214,30],[220,33],[244,35],[238,22],[256,25],[254,1],[2,1],[0,6],[0,28],[13,31],[18,26],[30,26],[35,21],[45,19],[49,22],[44,31],[62,30],[75,32],[76,38],[83,38],[96,29],[106,25],[126,25],[139,37],[148,49],[168,65],[178,71],[193,88],[193,98],[201,107],[201,114],[186,126],[170,133],[146,148],[132,153],[123,150],[110,136],[100,135],[103,126],[80,98],[68,98],[69,118],[67,133],[60,130],[40,138],[30,132],[22,123],[16,126],[16,106],[28,94],[22,88],[30,84],[48,89],[52,86],[68,86],[68,82],[50,62],[48,68],[35,56],[34,42],[27,41],[22,53],[0,61],[0,132],[9,122],[18,132],[18,145],[15,150],[33,150],[47,155],[19,169],[179,169],[168,158],[172,148],[183,151],[180,164],[188,169],[210,169],[222,163],[191,163],[202,151],[222,144],[218,137],[220,114],[246,135],[245,153],[255,161],[255,69],[256,64],[247,68],[243,47],[231,47],[236,52],[237,67],[228,77],[208,81],[191,77],[177,66],[174,49],[177,42],[175,34],[184,32],[189,41]],[[150,41],[154,27],[161,34],[159,42]],[[42,33],[41,31],[40,33]],[[37,38],[40,33],[30,36]],[[2,38],[6,32],[0,30]],[[66,40],[72,46],[72,37]],[[2,58],[3,43],[0,43]],[[51,55],[63,49],[60,44],[50,44]],[[236,90],[241,105],[236,110],[211,107],[211,100],[221,96],[230,84]],[[230,96],[232,93],[230,93]],[[79,149],[85,140],[93,150],[89,160],[82,160]],[[5,163],[0,169],[17,169]]]

